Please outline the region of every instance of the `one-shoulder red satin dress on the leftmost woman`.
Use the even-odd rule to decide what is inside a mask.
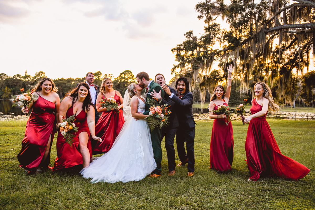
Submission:
[[[20,167],[28,171],[37,169],[41,163],[49,136],[51,135],[50,145],[52,145],[56,128],[55,104],[53,102],[39,96],[32,108],[33,110],[26,123],[25,136],[22,140],[22,150],[18,154]],[[50,150],[45,162],[41,166],[43,168],[48,167],[49,162]]]

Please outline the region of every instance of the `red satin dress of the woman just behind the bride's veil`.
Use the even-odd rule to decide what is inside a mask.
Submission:
[[[120,98],[116,93],[114,99],[116,103],[120,105]],[[103,96],[103,100],[106,100],[105,96]],[[112,148],[116,137],[121,128],[123,128],[124,122],[123,110],[119,110],[119,113],[115,110],[102,113],[95,125],[95,135],[100,137],[103,142],[96,141],[90,137],[91,141],[96,143],[93,149],[93,155],[106,153]]]

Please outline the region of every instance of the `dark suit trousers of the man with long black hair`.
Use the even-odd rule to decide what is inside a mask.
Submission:
[[[185,151],[186,149],[187,154]],[[188,172],[195,171],[195,151],[194,151],[194,142],[195,142],[195,127],[193,128],[178,128],[176,133],[176,145],[177,152],[180,162],[184,162],[188,158]]]

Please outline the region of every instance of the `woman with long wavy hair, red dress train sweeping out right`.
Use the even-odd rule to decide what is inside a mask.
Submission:
[[[275,175],[294,180],[305,177],[310,169],[281,154],[266,121],[268,111],[271,113],[279,111],[270,88],[264,82],[257,82],[254,91],[255,98],[250,108],[252,115],[241,116],[244,123],[249,123],[245,142],[247,165],[251,174],[248,181],[257,180],[261,175]]]

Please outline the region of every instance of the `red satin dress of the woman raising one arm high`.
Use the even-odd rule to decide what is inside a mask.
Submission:
[[[226,103],[224,105],[228,106]],[[210,168],[222,172],[231,170],[233,162],[233,128],[231,122],[225,124],[227,121],[228,118],[216,118],[213,121],[210,141]]]

